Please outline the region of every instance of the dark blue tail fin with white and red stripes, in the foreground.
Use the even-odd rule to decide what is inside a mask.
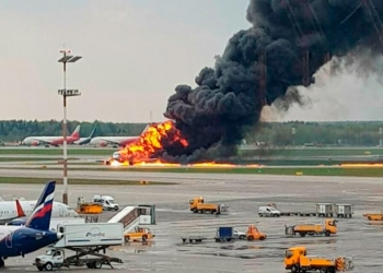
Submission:
[[[55,189],[56,181],[49,181],[46,183],[35,209],[25,222],[25,227],[31,227],[39,230],[49,230]]]

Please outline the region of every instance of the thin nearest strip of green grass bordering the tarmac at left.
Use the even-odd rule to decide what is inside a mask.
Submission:
[[[46,183],[48,179],[44,178],[25,178],[25,177],[0,177],[0,183]],[[62,185],[61,178],[53,178],[49,180],[56,180],[58,185]],[[70,185],[114,185],[114,186],[141,186],[137,180],[93,180],[93,179],[69,179]],[[174,182],[153,182],[149,181],[148,185],[152,186],[169,186],[176,185]],[[143,185],[142,185],[143,186]]]

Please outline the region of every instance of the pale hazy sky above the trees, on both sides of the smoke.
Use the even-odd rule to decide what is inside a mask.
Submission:
[[[248,0],[2,0],[0,9],[0,120],[61,120],[59,50],[82,56],[68,64],[68,119],[164,120],[178,84],[195,86],[229,38],[251,25]],[[345,72],[302,90],[302,107],[268,107],[272,121],[380,120],[376,79]]]

